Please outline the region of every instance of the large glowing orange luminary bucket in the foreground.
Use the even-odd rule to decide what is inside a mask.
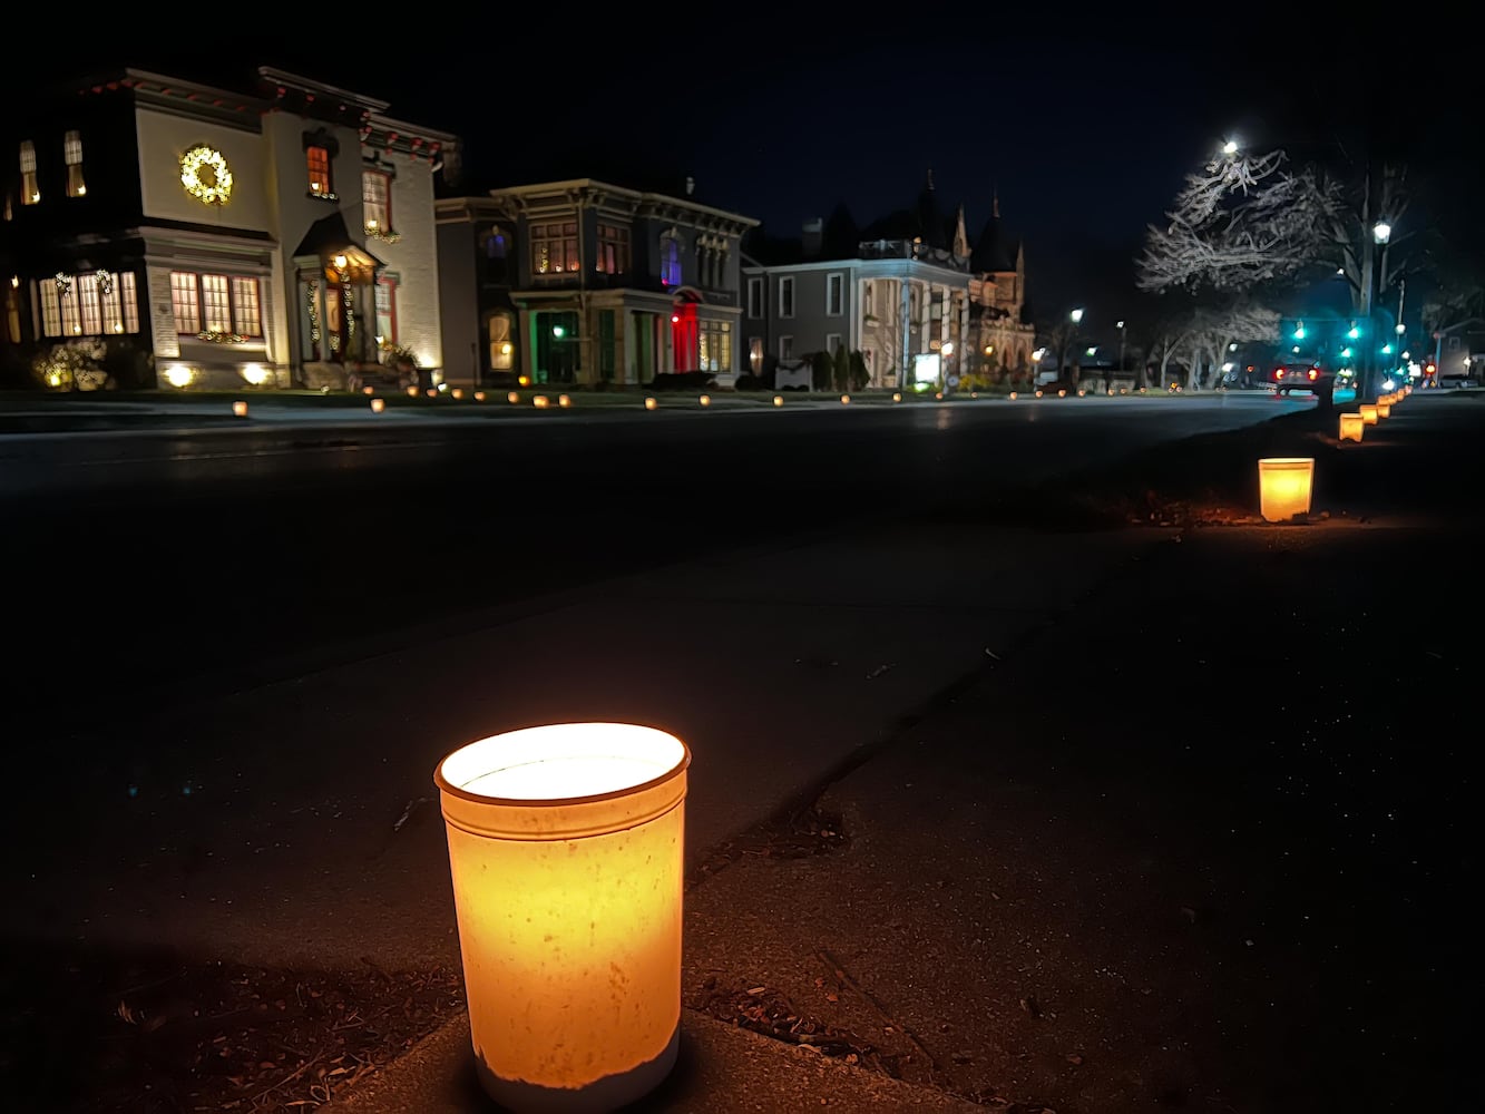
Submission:
[[[554,723],[438,763],[469,1035],[517,1111],[609,1111],[676,1062],[686,768],[674,735]]]

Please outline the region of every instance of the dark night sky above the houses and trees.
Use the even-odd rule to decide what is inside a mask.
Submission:
[[[1470,150],[1481,146],[1479,97],[1418,9],[1406,15],[1411,42],[1384,42],[1369,16],[1344,33],[1296,6],[1194,7],[1115,16],[1057,6],[1056,18],[1035,18],[738,3],[536,18],[440,6],[428,27],[389,25],[374,42],[327,51],[296,45],[325,42],[303,6],[278,21],[267,6],[254,13],[258,27],[278,22],[275,33],[244,33],[233,19],[220,43],[212,33],[171,48],[125,24],[10,59],[3,80],[15,95],[134,65],[238,86],[270,64],[459,134],[466,192],[689,174],[698,201],[780,235],[841,201],[858,224],[909,205],[931,166],[940,205],[952,212],[962,201],[971,236],[998,189],[1002,217],[1026,241],[1040,313],[1078,302],[1090,319],[1100,303],[1109,318],[1129,313],[1123,288],[1145,224],[1228,132],[1293,147],[1354,141],[1360,120],[1381,120],[1383,141],[1406,141],[1443,193],[1481,181]],[[1478,233],[1451,198],[1435,215]]]

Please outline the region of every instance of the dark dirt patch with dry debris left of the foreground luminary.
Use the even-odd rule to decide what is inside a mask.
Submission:
[[[27,948],[7,954],[25,957]],[[189,962],[169,954],[12,962],[0,1087],[15,1110],[301,1114],[463,1009],[459,971]]]

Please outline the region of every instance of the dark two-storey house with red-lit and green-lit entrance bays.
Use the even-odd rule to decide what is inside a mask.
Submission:
[[[738,370],[738,242],[757,224],[593,178],[437,202],[446,376],[642,385]]]

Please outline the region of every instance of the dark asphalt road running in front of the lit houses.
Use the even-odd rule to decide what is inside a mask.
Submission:
[[[4,703],[241,689],[429,622],[1310,403],[1041,400],[0,438]]]

